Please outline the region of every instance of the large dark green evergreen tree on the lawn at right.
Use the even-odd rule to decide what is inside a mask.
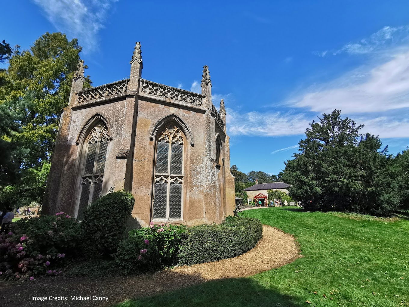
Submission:
[[[396,179],[387,169],[393,157],[380,150],[378,136],[361,134],[340,111],[323,114],[306,129],[299,153],[285,163],[290,196],[309,210],[386,214],[399,205]]]

